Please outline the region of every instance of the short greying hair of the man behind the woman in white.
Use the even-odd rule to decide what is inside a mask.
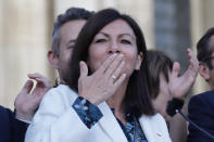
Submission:
[[[54,54],[60,54],[60,28],[67,22],[77,20],[88,20],[93,12],[87,11],[81,8],[70,8],[65,13],[60,14],[54,23],[52,31],[52,51]]]

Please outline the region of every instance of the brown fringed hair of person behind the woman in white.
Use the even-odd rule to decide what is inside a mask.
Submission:
[[[172,72],[174,61],[165,52],[160,50],[149,50],[147,53],[151,83],[150,93],[152,99],[155,99],[160,93],[160,75],[163,74],[168,82],[168,72]]]

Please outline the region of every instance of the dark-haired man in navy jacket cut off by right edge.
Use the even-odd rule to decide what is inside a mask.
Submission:
[[[199,73],[212,91],[203,92],[190,99],[189,118],[214,137],[214,28],[211,28],[197,44]],[[202,131],[189,125],[188,142],[214,142]]]

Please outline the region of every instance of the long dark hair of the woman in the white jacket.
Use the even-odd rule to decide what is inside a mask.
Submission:
[[[77,82],[79,78],[79,62],[86,62],[88,60],[89,46],[92,42],[95,36],[104,26],[116,20],[123,20],[130,26],[137,37],[136,42],[138,53],[142,52],[143,54],[143,61],[141,63],[140,70],[135,70],[129,78],[126,95],[122,104],[124,106],[124,112],[134,114],[136,117],[140,117],[142,114],[153,115],[154,109],[152,107],[148,89],[149,79],[144,37],[138,24],[130,16],[121,14],[114,9],[102,10],[87,21],[80,34],[78,35],[73,51],[72,61],[70,62],[68,75],[64,76],[63,79],[66,80],[72,89],[76,91],[78,90]]]

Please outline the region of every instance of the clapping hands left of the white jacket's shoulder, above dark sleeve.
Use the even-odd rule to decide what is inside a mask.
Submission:
[[[46,92],[51,88],[50,80],[40,74],[28,74],[29,79],[37,81],[34,87],[33,80],[27,80],[15,99],[16,118],[32,120],[40,101]]]

